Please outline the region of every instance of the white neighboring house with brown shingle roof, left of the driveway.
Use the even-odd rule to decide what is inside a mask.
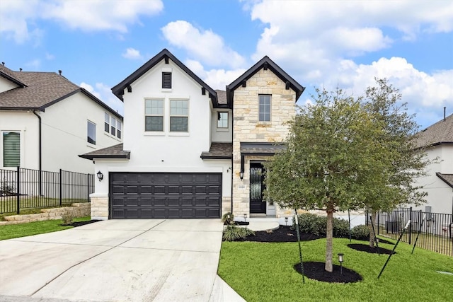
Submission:
[[[0,169],[93,173],[79,154],[122,141],[122,116],[54,72],[0,65]]]

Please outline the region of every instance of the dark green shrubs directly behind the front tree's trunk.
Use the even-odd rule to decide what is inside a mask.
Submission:
[[[317,236],[326,236],[327,216],[304,213],[297,215],[299,230],[302,233],[311,233]],[[293,228],[296,221],[293,219]],[[333,218],[333,237],[349,237],[349,222],[344,219]]]

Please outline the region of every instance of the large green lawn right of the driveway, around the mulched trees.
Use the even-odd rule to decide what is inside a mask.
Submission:
[[[348,248],[349,239],[334,238],[333,264],[353,269],[363,280],[351,284],[315,281],[298,274],[297,243],[224,242],[219,276],[246,301],[450,301],[453,295],[453,257],[399,243],[396,255],[377,279],[388,255],[369,254]],[[365,241],[352,240],[352,243]],[[304,261],[324,262],[326,239],[302,242]],[[391,250],[393,245],[381,244]]]

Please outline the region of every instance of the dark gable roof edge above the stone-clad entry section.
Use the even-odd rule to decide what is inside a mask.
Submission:
[[[233,83],[229,84],[226,86],[226,99],[228,101],[228,104],[230,108],[232,107],[233,104],[233,96],[234,96],[234,91],[236,88],[241,86],[244,81],[247,81],[250,79],[254,74],[256,74],[258,71],[261,69],[270,69],[273,71],[273,73],[278,76],[282,81],[285,83],[289,84],[289,87],[292,88],[293,91],[296,92],[296,100],[299,99],[300,95],[305,90],[305,87],[303,87],[301,84],[297,83],[294,79],[292,79],[289,74],[287,74],[283,69],[280,68],[273,60],[271,60],[268,56],[263,57],[263,59],[260,59],[258,63],[255,65],[251,66],[248,71],[244,72],[242,76],[239,76],[238,79],[236,79]]]

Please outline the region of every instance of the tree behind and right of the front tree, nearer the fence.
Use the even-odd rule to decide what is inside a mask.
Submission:
[[[382,125],[384,132],[379,141],[389,149],[390,163],[389,178],[383,185],[398,188],[391,194],[369,196],[365,200],[367,209],[372,212],[373,223],[379,210],[391,210],[398,204],[420,204],[425,202],[425,192],[420,187],[413,186],[413,180],[425,174],[426,165],[431,162],[425,158],[425,149],[416,142],[415,134],[418,124],[414,115],[408,115],[406,105],[400,104],[401,93],[391,86],[387,79],[375,79],[376,86],[368,87],[362,104],[373,115],[374,122]],[[374,247],[374,233],[370,227],[369,245]]]

